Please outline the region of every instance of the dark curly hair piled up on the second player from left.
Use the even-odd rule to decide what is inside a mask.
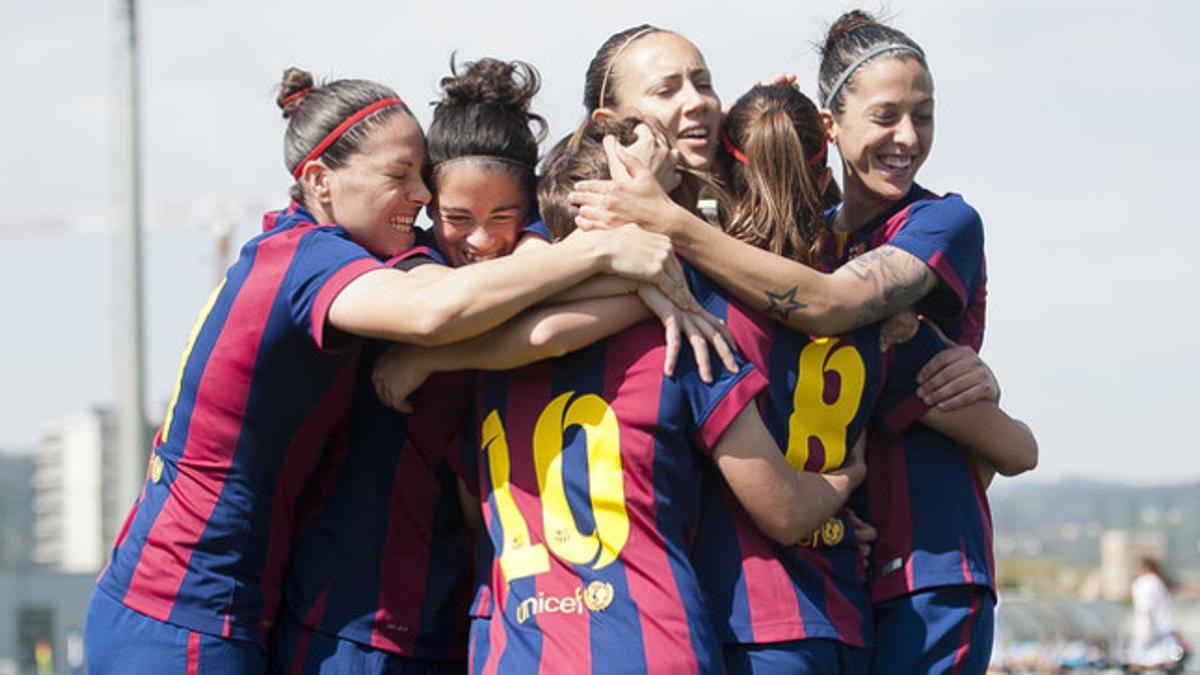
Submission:
[[[460,74],[451,55],[450,76],[442,78],[442,100],[434,103],[427,138],[433,183],[442,162],[479,157],[515,172],[532,205],[538,190],[538,143],[546,136],[546,120],[529,112],[541,89],[538,68],[491,58],[463,68]]]

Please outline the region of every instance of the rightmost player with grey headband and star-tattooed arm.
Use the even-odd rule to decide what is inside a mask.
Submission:
[[[952,338],[978,346],[984,280],[978,215],[960,197],[937,198],[914,183],[932,141],[924,53],[904,34],[851,12],[830,28],[823,55],[822,115],[842,156],[846,192],[834,227],[854,232],[847,251],[862,253],[850,263],[821,275],[737,243],[673,207],[647,171],[637,180],[582,184],[574,196],[582,204],[581,222],[640,222],[667,233],[700,269],[797,330],[833,334],[916,304]],[[976,383],[965,394],[979,392]],[[872,550],[872,599],[880,653],[887,655],[877,669],[985,663],[991,534],[973,461],[923,426],[905,434],[902,447],[871,453],[876,458],[869,510],[881,540]],[[1031,466],[995,468],[1012,474]],[[900,607],[887,604],[890,598],[901,598]],[[928,639],[913,639],[916,632]]]

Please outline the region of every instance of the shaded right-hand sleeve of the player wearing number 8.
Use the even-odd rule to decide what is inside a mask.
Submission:
[[[912,340],[888,351],[883,389],[871,417],[872,429],[896,435],[929,412],[929,406],[917,396],[917,374],[946,347],[937,331],[923,324]]]

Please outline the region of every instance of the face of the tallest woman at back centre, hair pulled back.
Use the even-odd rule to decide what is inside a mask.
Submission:
[[[646,35],[617,55],[611,78],[613,112],[658,124],[689,167],[712,171],[721,101],[695,44],[673,32]]]

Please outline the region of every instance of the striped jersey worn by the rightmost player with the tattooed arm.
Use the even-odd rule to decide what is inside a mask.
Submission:
[[[847,257],[889,245],[928,263],[942,285],[917,310],[960,344],[983,345],[983,223],[961,197],[913,185],[847,244]],[[913,358],[907,348],[896,348],[898,362]],[[880,532],[869,569],[872,602],[934,586],[992,586],[991,510],[967,448],[914,424],[895,437],[869,437],[866,464],[852,503]]]

